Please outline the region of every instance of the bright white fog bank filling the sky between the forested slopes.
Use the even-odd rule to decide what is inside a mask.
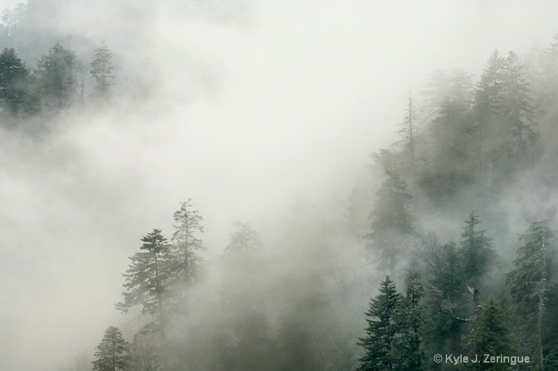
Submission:
[[[0,370],[58,370],[130,321],[114,309],[121,273],[142,236],[172,234],[179,202],[204,216],[208,257],[236,220],[269,246],[296,199],[347,197],[435,70],[478,76],[496,48],[523,56],[558,32],[555,1],[89,0],[61,12],[61,31],[107,40],[120,86],[150,89],[44,137],[0,132]]]

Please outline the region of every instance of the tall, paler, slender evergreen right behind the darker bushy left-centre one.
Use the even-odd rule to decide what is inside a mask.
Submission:
[[[195,275],[202,258],[197,251],[206,250],[199,234],[204,233],[204,218],[197,210],[193,210],[192,199],[181,202],[180,210],[174,213],[174,233],[172,234],[172,250],[176,257],[174,267],[176,278],[186,287],[195,280]]]

